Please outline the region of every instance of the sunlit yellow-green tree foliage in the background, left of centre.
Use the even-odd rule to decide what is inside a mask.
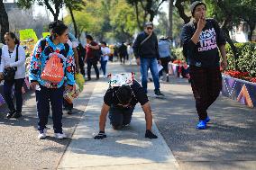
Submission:
[[[126,41],[137,28],[133,6],[125,0],[86,0],[82,10],[73,11],[79,32],[87,31],[96,40]],[[70,16],[64,21],[70,24]]]

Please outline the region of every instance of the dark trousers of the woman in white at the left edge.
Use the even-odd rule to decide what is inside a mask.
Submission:
[[[15,79],[13,81],[4,83],[5,101],[11,112],[15,111],[13,97],[12,97],[13,85],[14,85],[15,98],[16,98],[16,112],[22,112],[23,110],[23,93],[22,93],[23,83],[24,83],[24,78]]]

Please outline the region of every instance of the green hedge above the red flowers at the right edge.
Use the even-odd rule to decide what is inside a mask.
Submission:
[[[250,76],[256,76],[256,43],[246,42],[246,43],[235,43],[235,47],[238,50],[239,58],[236,64],[239,68],[237,71],[249,72]],[[226,45],[226,53],[228,59],[228,69],[235,70],[233,52],[230,46]]]

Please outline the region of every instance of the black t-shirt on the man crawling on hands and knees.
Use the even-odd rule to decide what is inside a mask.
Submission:
[[[137,81],[133,82],[131,85],[133,90],[132,100],[130,102],[130,106],[134,107],[136,103],[141,103],[144,105],[149,101],[147,94],[145,94],[144,90],[142,89],[142,85],[140,85]],[[119,101],[116,96],[116,91],[119,87],[109,88],[107,89],[105,96],[104,96],[104,103],[108,106],[114,105],[117,106]]]

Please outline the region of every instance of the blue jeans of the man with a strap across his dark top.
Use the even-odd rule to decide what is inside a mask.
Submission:
[[[141,58],[141,75],[142,75],[142,87],[145,93],[148,93],[148,70],[151,69],[151,75],[155,85],[155,90],[160,89],[160,80],[158,72],[158,61],[157,58]]]

